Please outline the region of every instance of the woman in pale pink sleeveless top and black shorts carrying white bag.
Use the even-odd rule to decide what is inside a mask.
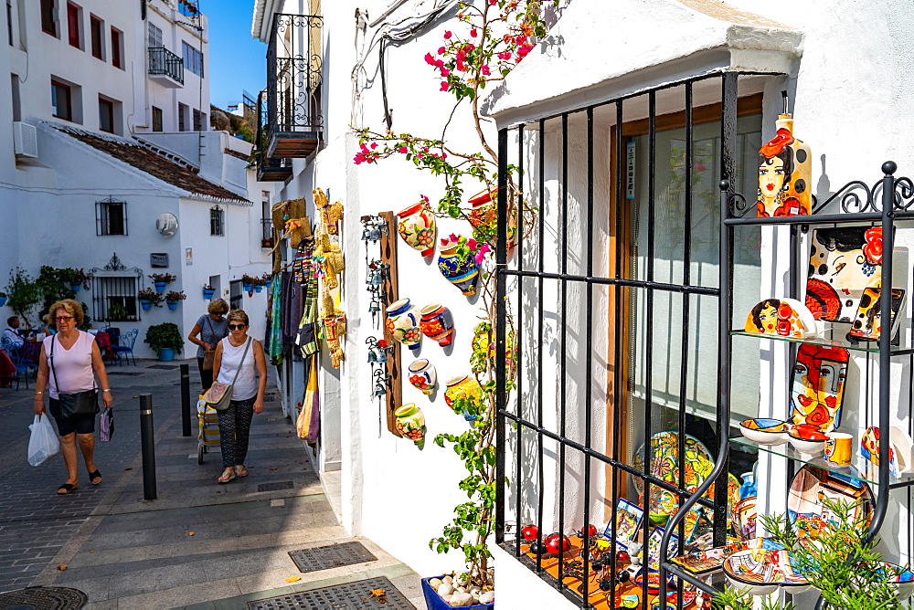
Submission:
[[[101,361],[101,351],[95,337],[77,327],[82,324],[82,305],[75,300],[58,300],[48,312],[57,325],[57,334],[45,337],[38,361],[38,379],[35,383],[35,415],[45,412],[44,394],[48,387],[50,412],[58,425],[60,448],[67,465],[67,482],[58,489],[58,494],[68,494],[77,488],[79,481],[76,453],[79,440],[80,452],[89,471],[89,482],[101,484],[101,472],[95,465],[95,414],[60,414],[60,394],[77,394],[101,390],[101,402],[105,408],[112,405],[112,391],[108,385],[108,373]],[[49,373],[48,373],[49,372]]]

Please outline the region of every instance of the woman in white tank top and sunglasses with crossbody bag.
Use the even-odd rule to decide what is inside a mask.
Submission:
[[[217,481],[228,483],[235,477],[248,476],[244,458],[248,456],[250,420],[263,411],[263,393],[267,389],[263,347],[248,336],[248,314],[244,310],[228,314],[228,337],[216,347],[213,378],[220,384],[231,384],[235,379],[228,409],[218,412],[223,471]]]

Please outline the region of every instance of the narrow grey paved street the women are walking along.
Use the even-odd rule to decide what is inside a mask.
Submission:
[[[250,476],[218,485],[218,447],[197,463],[196,411],[192,436],[182,436],[178,363],[138,363],[109,369],[116,426],[111,442],[97,444],[101,485],[80,471],[79,489],[67,496],[56,493],[65,479],[59,455],[37,468],[26,461],[33,391],[0,390],[0,592],[72,587],[90,608],[245,608],[338,584],[377,589],[384,581],[367,579],[386,578],[391,597],[396,588],[425,607],[417,574],[340,527],[274,390],[251,426]],[[149,501],[137,398],[144,392],[153,394],[156,438],[157,499]],[[301,573],[289,555],[339,542],[361,542],[377,560]]]

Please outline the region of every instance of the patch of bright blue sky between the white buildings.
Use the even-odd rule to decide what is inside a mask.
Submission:
[[[254,0],[199,0],[209,19],[209,95],[214,106],[241,101],[241,90],[257,97],[266,87],[267,46],[250,37]]]

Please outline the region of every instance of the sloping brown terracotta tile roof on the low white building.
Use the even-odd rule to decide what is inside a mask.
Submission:
[[[112,138],[100,137],[88,131],[77,130],[69,126],[58,127],[58,129],[80,142],[89,144],[92,148],[102,153],[110,154],[118,161],[132,165],[146,174],[189,191],[193,195],[227,203],[252,205],[244,197],[236,195],[218,184],[204,180],[196,174],[193,168],[169,161],[139,144],[133,144],[117,136]]]

